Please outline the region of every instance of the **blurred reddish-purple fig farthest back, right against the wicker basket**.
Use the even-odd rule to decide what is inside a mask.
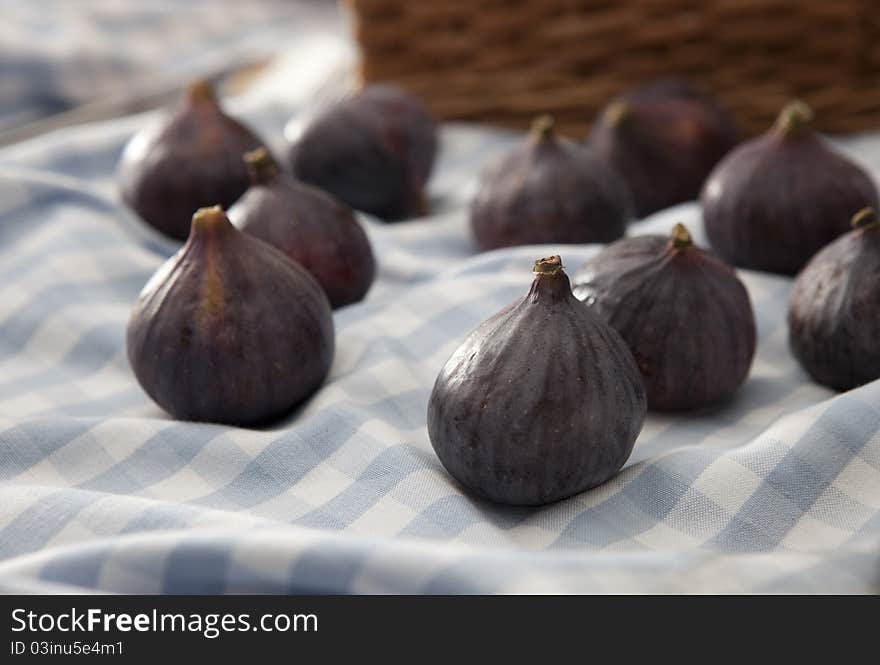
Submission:
[[[696,200],[739,133],[708,94],[662,80],[612,101],[590,133],[596,154],[623,177],[638,217]]]

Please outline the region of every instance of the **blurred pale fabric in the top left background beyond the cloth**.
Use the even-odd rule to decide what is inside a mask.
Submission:
[[[337,23],[332,0],[0,0],[0,131],[259,60]]]

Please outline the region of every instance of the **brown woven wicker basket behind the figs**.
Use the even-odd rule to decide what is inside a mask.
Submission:
[[[347,0],[361,79],[441,118],[582,136],[614,95],[682,76],[748,133],[800,97],[828,132],[880,127],[876,0]]]

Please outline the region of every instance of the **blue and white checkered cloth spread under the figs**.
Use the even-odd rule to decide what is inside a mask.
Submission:
[[[229,104],[276,147],[290,109]],[[743,272],[759,346],[737,399],[648,417],[613,480],[539,509],[463,494],[428,442],[440,367],[528,289],[532,261],[478,255],[467,204],[519,137],[447,126],[430,218],[364,218],[368,299],[338,311],[326,385],[254,431],[170,420],[124,329],[173,251],[117,201],[145,117],[0,150],[0,590],[124,593],[878,592],[880,382],[843,395],[787,347],[791,280]],[[846,148],[875,171],[880,139]],[[632,233],[689,224],[695,205]]]

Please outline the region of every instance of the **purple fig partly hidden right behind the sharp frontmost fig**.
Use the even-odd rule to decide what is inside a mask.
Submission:
[[[609,245],[574,277],[574,294],[607,321],[636,359],[648,408],[697,409],[729,399],[755,354],[755,318],[734,270],[693,244],[634,236]]]

